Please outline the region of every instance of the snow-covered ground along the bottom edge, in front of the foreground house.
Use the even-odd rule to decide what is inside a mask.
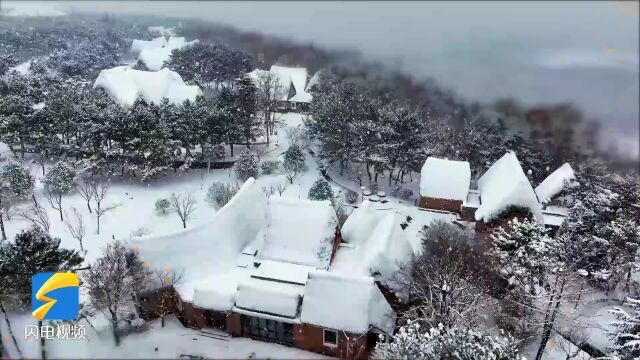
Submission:
[[[11,326],[20,350],[27,359],[40,358],[38,340],[25,340],[24,336],[25,327],[35,324],[36,320],[29,313],[12,314]],[[326,358],[320,354],[248,338],[214,339],[202,335],[199,330],[185,328],[175,316],[168,316],[164,327],[161,327],[159,319],[148,322],[145,331],[123,337],[120,346],[114,345],[109,329],[96,330],[86,322],[81,324],[85,325],[85,339],[46,341],[47,356],[50,359],[177,359],[188,356],[217,359],[246,359],[250,356],[262,359]],[[2,334],[8,333],[4,319],[0,321],[0,327]],[[17,358],[13,343],[9,340],[4,341],[4,344],[10,351],[9,354]]]

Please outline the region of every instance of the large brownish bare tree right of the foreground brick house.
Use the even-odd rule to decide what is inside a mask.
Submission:
[[[484,252],[470,234],[444,222],[422,234],[419,256],[394,275],[411,304],[405,317],[430,327],[478,324],[490,313],[494,285]]]

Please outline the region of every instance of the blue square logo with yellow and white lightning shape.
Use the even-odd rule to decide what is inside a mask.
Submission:
[[[74,273],[37,273],[31,277],[31,313],[38,320],[76,320],[80,280]]]

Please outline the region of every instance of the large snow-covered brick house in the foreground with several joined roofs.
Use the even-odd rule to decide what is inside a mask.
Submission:
[[[340,240],[328,201],[265,199],[249,179],[209,224],[136,245],[150,266],[185,270],[174,311],[186,326],[364,358],[378,333],[392,333],[395,314],[372,277],[328,273]],[[357,321],[318,320],[338,294]]]

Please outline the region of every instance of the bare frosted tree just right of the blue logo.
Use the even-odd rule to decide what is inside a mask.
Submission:
[[[102,256],[82,274],[89,303],[111,322],[116,346],[120,345],[123,312],[149,287],[150,276],[138,254],[120,242],[107,244]]]

